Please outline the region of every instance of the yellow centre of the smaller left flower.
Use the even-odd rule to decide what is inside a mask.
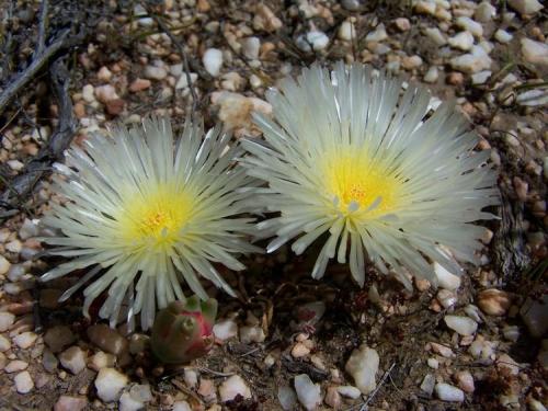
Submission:
[[[192,213],[189,194],[169,185],[128,193],[124,198],[125,206],[116,219],[128,246],[172,246]]]

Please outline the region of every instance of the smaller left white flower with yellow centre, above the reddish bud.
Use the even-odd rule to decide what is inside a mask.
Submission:
[[[242,270],[232,254],[258,251],[242,237],[251,220],[232,218],[244,212],[250,191],[242,187],[253,179],[233,167],[241,149],[229,148],[229,135],[215,128],[203,137],[202,126],[187,123],[173,147],[169,121],[147,119],[142,128],[95,135],[83,150],[68,150],[68,167],[59,165],[68,178],[56,179],[68,201],[44,218],[62,236],[44,241],[59,246],[52,254],[75,259],[42,279],[89,271],[61,299],[94,279],[83,292],[85,315],[107,289],[100,317],[114,327],[122,315],[132,321],[140,312],[146,330],[157,305],[184,299],[181,282],[203,299],[197,275],[233,295],[213,263]]]

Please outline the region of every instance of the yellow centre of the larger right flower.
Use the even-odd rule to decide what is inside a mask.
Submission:
[[[401,181],[385,164],[370,161],[364,152],[329,156],[324,162],[327,189],[339,198],[339,207],[349,212],[355,203],[359,210],[370,207],[372,215],[385,214],[398,206]]]

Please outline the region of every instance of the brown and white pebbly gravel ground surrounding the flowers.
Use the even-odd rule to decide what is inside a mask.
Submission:
[[[9,3],[1,39],[24,36],[13,53],[25,61],[39,4]],[[1,219],[0,409],[546,410],[546,9],[536,0],[156,3],[153,18],[132,1],[90,3],[93,32],[68,59],[73,144],[151,113],[180,128],[193,104],[235,138],[260,136],[250,114],[271,113],[267,88],[315,61],[362,61],[456,100],[499,170],[501,220],[486,232],[482,265],[463,277],[437,267],[437,289],[415,281],[409,293],[373,269],[359,289],[336,264],[315,282],[313,261],[286,249],[251,256],[241,276],[226,273],[241,298],[212,290],[209,355],[162,367],[148,335],[83,318],[81,294],[58,302],[79,273],[36,282],[56,264],[39,241],[39,218],[59,201],[46,176]],[[52,2],[52,21],[56,7],[75,4]],[[2,66],[4,80],[22,67]],[[57,126],[47,94],[38,76],[0,118],[2,191]],[[302,319],[305,309],[317,316]]]

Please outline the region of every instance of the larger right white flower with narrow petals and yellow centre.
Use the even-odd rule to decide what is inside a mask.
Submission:
[[[267,182],[261,203],[278,217],[259,224],[275,236],[272,252],[289,240],[302,253],[326,237],[312,276],[330,259],[349,260],[365,281],[368,259],[410,286],[408,271],[436,283],[430,261],[458,270],[444,251],[476,262],[482,208],[498,203],[490,153],[449,104],[433,114],[430,93],[370,68],[341,62],[285,80],[267,95],[275,122],[258,115],[266,144],[248,140],[249,175]],[[430,261],[429,261],[430,260]]]

